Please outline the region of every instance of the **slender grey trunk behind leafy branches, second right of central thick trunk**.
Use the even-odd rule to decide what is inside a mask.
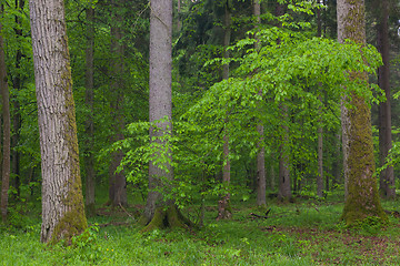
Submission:
[[[254,0],[253,8],[254,8],[254,17],[257,20],[256,28],[258,28],[258,25],[261,23],[260,0]],[[256,49],[259,50],[258,43],[256,43]],[[259,95],[262,98],[262,90],[259,91]],[[258,122],[257,132],[260,135],[259,144],[258,144],[259,152],[257,154],[257,205],[261,206],[261,205],[267,204],[267,200],[266,200],[266,188],[267,188],[267,184],[266,184],[266,147],[263,145],[264,129],[263,129],[263,124],[261,121]]]

